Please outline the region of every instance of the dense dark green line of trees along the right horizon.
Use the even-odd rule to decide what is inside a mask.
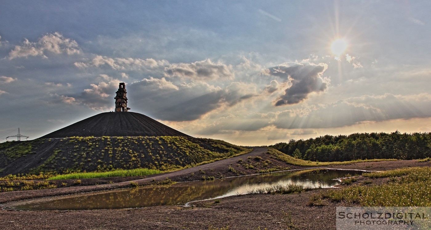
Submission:
[[[268,146],[293,157],[320,162],[365,159],[424,159],[431,156],[431,133],[325,135]]]

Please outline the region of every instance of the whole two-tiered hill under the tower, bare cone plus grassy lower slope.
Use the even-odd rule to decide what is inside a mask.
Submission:
[[[0,143],[0,177],[114,169],[173,169],[246,149],[194,138],[135,112],[104,112],[41,138]]]

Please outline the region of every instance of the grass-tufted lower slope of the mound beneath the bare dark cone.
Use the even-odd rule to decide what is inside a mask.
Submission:
[[[9,148],[2,148],[3,144],[0,144],[0,162],[6,166],[0,169],[3,176],[17,174],[16,168],[19,173],[32,174],[133,168],[172,170],[227,158],[245,150],[224,141],[189,137],[70,137],[38,139]]]

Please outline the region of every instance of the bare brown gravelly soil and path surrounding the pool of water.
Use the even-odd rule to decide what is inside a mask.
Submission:
[[[205,175],[235,176],[254,174],[263,168],[308,168],[286,165],[265,153],[265,148],[255,148],[246,155],[187,168],[167,174],[153,175],[147,178],[122,178],[82,180],[82,184],[106,183],[90,186],[74,186],[50,190],[15,191],[0,193],[0,206],[6,202],[43,196],[83,193],[109,190],[130,186],[130,180],[139,184],[156,183],[169,178],[174,181],[200,179]],[[262,159],[256,158],[260,156]],[[239,160],[241,159],[241,160]],[[265,162],[268,165],[265,165]],[[241,163],[241,164],[240,164]],[[244,167],[244,163],[255,165],[254,169]],[[352,165],[337,165],[326,168],[359,170],[389,170],[403,167],[430,167],[431,162],[390,161],[365,162]],[[235,172],[229,168],[233,168]],[[137,179],[137,180],[134,180]],[[153,181],[155,179],[155,181]],[[360,178],[356,183],[362,183]],[[367,178],[367,180],[369,180]],[[374,179],[373,183],[384,183],[383,179]],[[139,209],[102,209],[82,211],[0,211],[2,229],[238,229],[238,230],[326,230],[335,229],[335,208],[346,204],[328,202],[323,206],[310,206],[309,196],[319,190],[290,195],[247,194],[225,197],[219,200],[193,202],[191,207],[159,206]]]

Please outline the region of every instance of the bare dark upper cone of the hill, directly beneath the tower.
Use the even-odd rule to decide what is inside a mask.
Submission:
[[[104,112],[78,121],[41,138],[65,137],[189,137],[136,112]]]

